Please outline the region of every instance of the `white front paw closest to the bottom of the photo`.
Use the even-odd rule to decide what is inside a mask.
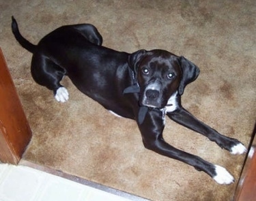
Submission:
[[[227,172],[227,170],[221,166],[215,165],[216,176],[213,179],[219,184],[230,184],[234,183],[233,176]]]

